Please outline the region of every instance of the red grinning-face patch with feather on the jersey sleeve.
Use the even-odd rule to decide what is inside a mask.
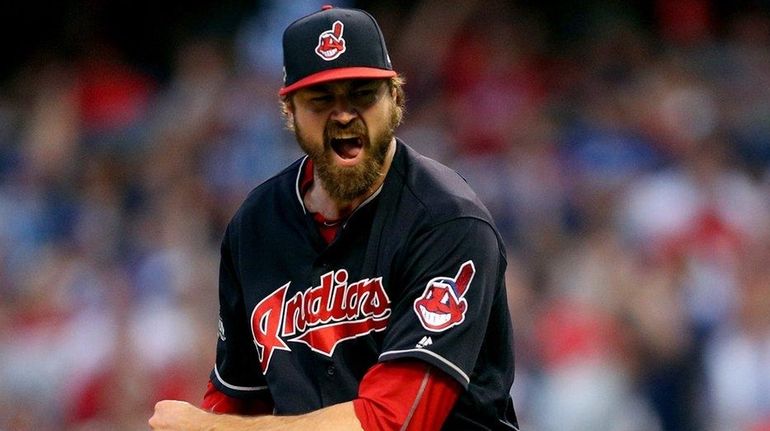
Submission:
[[[454,278],[436,277],[414,301],[414,312],[428,331],[442,332],[465,320],[468,303],[465,292],[473,281],[476,267],[469,260],[460,266]]]

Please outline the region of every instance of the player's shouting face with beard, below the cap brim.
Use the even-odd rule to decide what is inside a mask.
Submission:
[[[315,164],[332,198],[365,194],[382,175],[398,124],[386,80],[343,80],[297,90],[293,120],[297,142]]]

